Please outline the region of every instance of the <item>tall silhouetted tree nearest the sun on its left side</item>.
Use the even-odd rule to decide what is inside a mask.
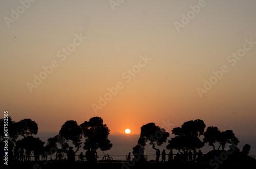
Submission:
[[[83,131],[83,136],[86,137],[86,142],[83,146],[84,150],[91,148],[92,152],[96,153],[98,148],[101,151],[112,148],[112,144],[108,139],[110,130],[106,124],[103,124],[103,120],[100,117],[93,117],[88,122],[83,122],[80,127]]]

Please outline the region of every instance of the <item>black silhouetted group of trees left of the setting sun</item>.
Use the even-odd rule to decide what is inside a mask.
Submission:
[[[4,120],[0,120],[1,128],[4,128]],[[59,134],[48,139],[46,146],[45,142],[42,142],[39,138],[35,138],[32,135],[36,135],[38,126],[35,121],[31,119],[24,119],[19,122],[12,121],[11,117],[8,117],[8,136],[9,150],[13,150],[16,145],[17,149],[26,149],[33,151],[34,154],[57,155],[59,153],[67,153],[69,144],[72,144],[78,150],[82,145],[82,137],[85,138],[84,150],[91,150],[96,152],[97,149],[102,151],[110,150],[112,144],[108,139],[110,130],[106,124],[103,124],[103,120],[100,117],[93,117],[89,121],[85,121],[78,125],[76,121],[69,120],[62,125]],[[17,140],[19,136],[22,139]],[[4,145],[4,130],[0,132],[0,143]],[[2,148],[4,146],[1,146]]]

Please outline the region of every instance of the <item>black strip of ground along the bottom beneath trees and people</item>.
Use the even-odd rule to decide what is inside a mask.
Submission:
[[[251,165],[251,164],[250,164]],[[222,163],[217,168],[253,168],[255,169],[256,166],[250,166],[249,164],[239,164],[239,163]],[[172,169],[178,169],[178,168],[197,168],[197,169],[206,169],[206,168],[215,168],[216,166],[210,166],[209,163],[155,163],[155,162],[146,162],[143,164],[136,164],[133,165],[130,164],[127,165],[126,162],[97,162],[97,163],[88,163],[88,162],[75,162],[75,163],[66,163],[66,162],[55,162],[55,161],[49,161],[47,164],[44,163],[16,163],[12,165],[8,165],[8,167],[5,165],[3,168],[33,168],[33,169],[42,169],[42,168],[49,168],[49,169],[56,169],[56,168],[118,168],[118,169],[133,169],[133,168],[172,168]],[[2,167],[1,167],[2,168]]]

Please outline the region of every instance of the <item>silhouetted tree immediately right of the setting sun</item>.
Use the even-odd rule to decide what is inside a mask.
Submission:
[[[146,145],[146,142],[150,141],[150,145],[161,146],[166,142],[169,133],[166,132],[163,128],[156,126],[155,123],[148,123],[141,126],[140,137],[138,144],[142,147]]]

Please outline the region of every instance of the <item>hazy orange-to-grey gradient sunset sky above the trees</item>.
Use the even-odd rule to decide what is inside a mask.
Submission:
[[[5,18],[21,4],[1,1],[0,109],[14,121],[34,120],[39,131],[99,116],[111,134],[139,134],[150,122],[170,131],[201,119],[206,127],[255,136],[256,45],[234,66],[227,58],[245,39],[256,42],[256,1],[206,0],[178,32],[174,22],[198,3],[126,0],[113,10],[109,0],[38,0],[8,27]],[[75,34],[87,39],[61,61],[58,51]],[[145,55],[152,60],[126,82],[122,74]],[[31,93],[27,83],[54,60],[58,67]],[[229,71],[201,98],[197,88],[223,65]],[[118,81],[123,89],[95,114],[92,104]]]

